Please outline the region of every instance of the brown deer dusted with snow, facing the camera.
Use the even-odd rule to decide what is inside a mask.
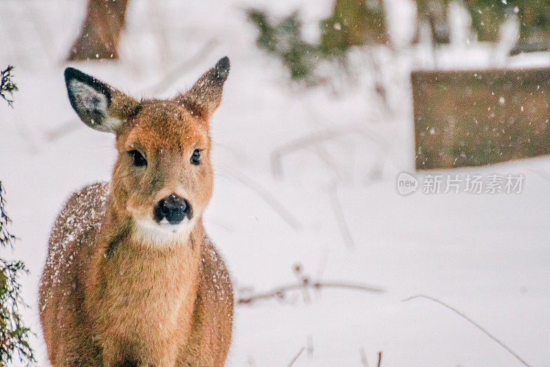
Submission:
[[[109,183],[58,214],[39,287],[52,366],[223,366],[233,319],[228,269],[202,214],[212,196],[209,120],[227,56],[170,100],[136,100],[67,67],[69,102],[115,134]]]

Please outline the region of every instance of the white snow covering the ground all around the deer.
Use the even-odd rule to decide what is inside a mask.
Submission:
[[[409,1],[388,3],[388,11],[407,19]],[[369,93],[369,69],[358,69],[360,82],[339,96],[289,88],[277,61],[255,47],[243,15],[249,5],[275,14],[300,8],[314,34],[315,22],[330,12],[329,0],[155,4],[131,1],[122,60],[73,66],[135,96],[163,97],[230,56],[223,102],[212,119],[217,175],[206,229],[228,263],[237,296],[296,282],[298,263],[314,279],[386,290],[325,289],[311,292],[307,302],[298,291],[285,302],[238,306],[228,366],[287,366],[302,347],[308,350],[296,367],[364,366],[360,350],[369,366],[378,351],[386,367],[522,366],[440,304],[402,302],[417,294],[459,309],[531,366],[550,364],[547,157],[430,173],[522,174],[520,194],[424,194],[420,188],[401,196],[396,177],[413,173],[414,159],[408,73],[432,66],[426,49],[380,55],[388,115]],[[0,9],[0,67],[16,65],[20,89],[14,109],[0,100],[0,179],[11,230],[21,238],[13,254],[2,256],[21,258],[31,271],[23,278],[31,307],[23,313],[36,332],[32,346],[41,366],[47,359],[36,303],[50,226],[72,191],[109,180],[115,158],[113,137],[81,123],[65,91],[62,60],[84,7],[84,1],[10,0]],[[410,34],[410,23],[393,24],[396,34]],[[438,66],[550,63],[547,55],[497,56],[480,45],[453,45],[441,51]],[[184,71],[170,74],[186,60],[192,62]],[[327,129],[365,133],[285,154],[282,175],[274,175],[278,148]]]

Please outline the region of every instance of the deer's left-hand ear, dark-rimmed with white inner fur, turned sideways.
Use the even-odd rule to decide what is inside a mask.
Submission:
[[[67,67],[65,84],[76,114],[92,129],[115,133],[139,102],[82,71]]]

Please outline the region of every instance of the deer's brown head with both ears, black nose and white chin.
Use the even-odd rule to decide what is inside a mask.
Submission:
[[[135,100],[71,67],[71,105],[87,126],[115,134],[109,208],[145,243],[188,236],[212,195],[210,116],[221,102],[229,58],[221,58],[186,93]]]

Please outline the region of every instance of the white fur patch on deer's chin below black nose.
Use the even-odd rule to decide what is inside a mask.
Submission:
[[[187,241],[195,220],[184,219],[179,224],[170,224],[166,219],[156,223],[153,219],[136,219],[133,237],[142,243],[166,246]]]

